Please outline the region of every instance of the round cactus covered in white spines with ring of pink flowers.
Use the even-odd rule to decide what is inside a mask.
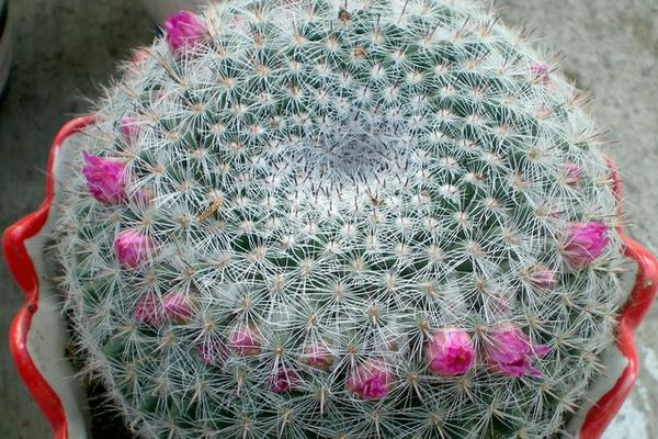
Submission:
[[[581,99],[465,0],[179,13],[71,166],[61,289],[145,438],[536,438],[625,299]]]

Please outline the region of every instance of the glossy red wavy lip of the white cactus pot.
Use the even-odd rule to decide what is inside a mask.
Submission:
[[[38,305],[39,280],[25,241],[37,235],[48,218],[55,187],[53,168],[59,148],[69,136],[81,132],[93,122],[93,115],[84,115],[73,119],[59,130],[48,156],[44,200],[36,211],[9,226],[2,236],[7,264],[25,295],[10,327],[11,353],[25,386],[50,424],[55,439],[69,439],[68,419],[59,396],[41,374],[27,350],[27,335],[32,326],[32,316]],[[608,164],[611,168],[613,190],[617,199],[617,213],[622,214],[622,180],[612,159],[608,159]],[[580,439],[599,438],[631,393],[638,373],[635,330],[658,293],[658,260],[639,243],[626,235],[621,225],[617,227],[617,232],[624,243],[625,256],[637,263],[633,290],[617,319],[615,346],[627,362],[614,386],[588,410],[579,431]]]

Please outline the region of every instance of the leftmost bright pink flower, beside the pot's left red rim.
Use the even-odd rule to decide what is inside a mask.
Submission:
[[[125,165],[118,160],[82,153],[82,173],[89,193],[104,204],[121,203],[126,198]]]

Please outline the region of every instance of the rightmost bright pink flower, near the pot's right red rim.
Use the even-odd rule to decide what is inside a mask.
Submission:
[[[608,226],[595,221],[569,224],[563,255],[578,268],[589,266],[608,246],[606,232]]]

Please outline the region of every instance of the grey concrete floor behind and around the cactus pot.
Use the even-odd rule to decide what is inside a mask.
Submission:
[[[0,229],[43,198],[57,128],[84,113],[117,59],[154,35],[135,0],[10,0],[15,60],[0,100]],[[658,2],[498,0],[508,24],[526,24],[559,48],[564,68],[592,91],[600,125],[626,181],[632,234],[658,251]],[[46,438],[47,425],[13,367],[8,325],[22,296],[0,264],[0,438]],[[642,375],[609,439],[658,437],[658,306],[638,333]]]

